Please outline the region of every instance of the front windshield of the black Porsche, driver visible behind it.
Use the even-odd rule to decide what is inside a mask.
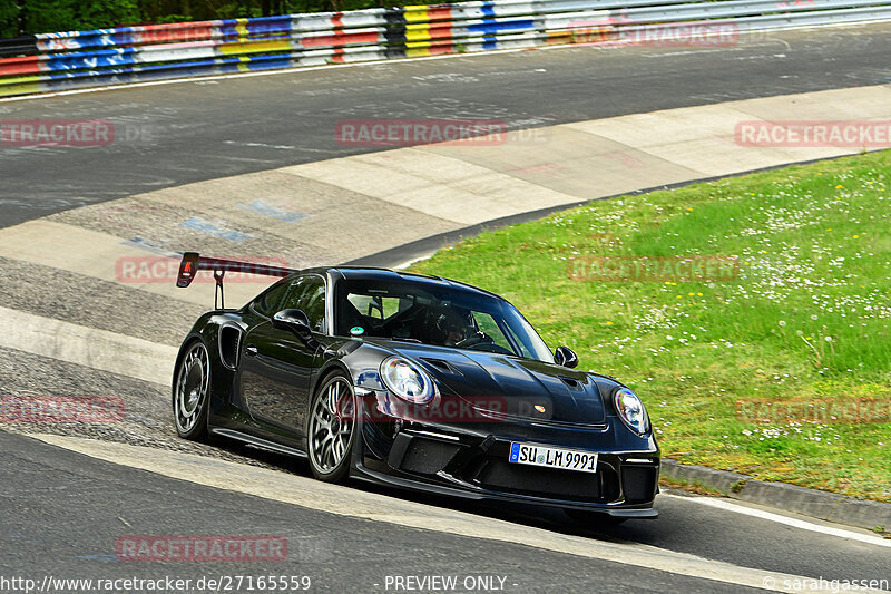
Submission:
[[[337,335],[375,337],[554,362],[510,303],[460,288],[410,281],[339,283]]]

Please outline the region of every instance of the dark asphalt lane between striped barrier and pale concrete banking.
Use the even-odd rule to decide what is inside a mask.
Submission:
[[[335,142],[341,119],[529,128],[884,84],[889,55],[891,26],[873,25],[764,33],[725,48],[562,48],[0,101],[2,119],[105,119],[131,137],[77,150],[0,147],[0,224],[360,152]]]

